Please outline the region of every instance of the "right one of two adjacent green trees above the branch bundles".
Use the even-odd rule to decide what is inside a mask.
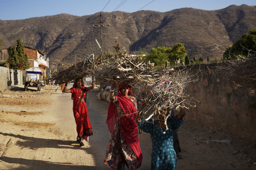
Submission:
[[[184,48],[184,44],[176,43],[173,46],[173,49],[171,49],[168,59],[170,63],[175,63],[175,65],[177,65],[178,62],[180,63],[184,62],[184,58],[186,57],[186,55],[187,55],[187,51]]]

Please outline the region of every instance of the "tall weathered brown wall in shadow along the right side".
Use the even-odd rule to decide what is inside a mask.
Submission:
[[[187,66],[196,74],[189,84],[188,94],[196,100],[196,107],[187,111],[187,119],[237,137],[256,140],[255,90],[234,86],[227,74],[217,71],[224,63]]]

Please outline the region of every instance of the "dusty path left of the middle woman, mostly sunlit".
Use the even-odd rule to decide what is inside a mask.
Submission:
[[[110,138],[105,123],[109,103],[98,101],[98,92],[87,96],[94,135],[83,147],[75,141],[71,94],[47,89],[4,93],[0,98],[0,169],[110,169],[103,164]],[[148,168],[150,164],[141,169]]]

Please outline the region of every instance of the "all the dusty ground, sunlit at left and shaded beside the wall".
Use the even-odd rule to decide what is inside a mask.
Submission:
[[[98,92],[92,91],[87,100],[93,103],[90,107],[96,106],[95,111],[99,111],[104,124],[108,104],[96,99]],[[93,154],[90,147],[96,143],[89,142],[81,148],[74,141],[73,117],[53,114],[56,113],[53,104],[66,107],[62,103],[57,100],[56,91],[47,88],[24,92],[23,88],[15,87],[0,92],[0,169],[109,169],[100,164],[105,149]],[[72,123],[66,127],[69,121]],[[182,159],[178,160],[177,169],[256,169],[255,141],[200,126],[186,117],[178,136]],[[147,169],[150,158],[146,155],[150,155],[151,141],[148,134],[139,137],[145,155],[140,169]],[[107,138],[108,135],[102,140]]]

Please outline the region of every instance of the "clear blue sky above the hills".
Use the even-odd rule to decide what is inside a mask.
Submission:
[[[39,16],[71,14],[91,15],[96,12],[136,12],[152,10],[166,12],[192,7],[219,10],[230,5],[256,5],[255,0],[0,0],[0,19],[17,20]],[[151,2],[151,3],[150,3]]]

